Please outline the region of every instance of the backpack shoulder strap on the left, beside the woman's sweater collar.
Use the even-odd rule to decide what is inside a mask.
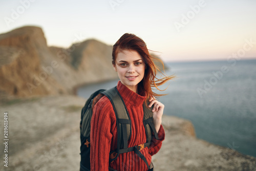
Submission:
[[[126,109],[124,101],[116,87],[106,90],[102,94],[104,94],[110,99],[116,115],[117,151],[119,151],[119,149],[121,148],[127,148],[128,140],[131,137],[132,126],[131,126],[131,118]]]

